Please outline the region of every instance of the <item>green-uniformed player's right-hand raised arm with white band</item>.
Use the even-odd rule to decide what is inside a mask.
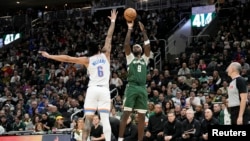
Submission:
[[[142,34],[143,34],[143,40],[144,40],[144,44],[143,44],[143,48],[144,48],[144,54],[149,57],[150,56],[150,41],[148,39],[148,35],[147,35],[147,32],[145,30],[145,27],[144,25],[139,22],[139,26],[140,26],[140,29],[142,31]]]

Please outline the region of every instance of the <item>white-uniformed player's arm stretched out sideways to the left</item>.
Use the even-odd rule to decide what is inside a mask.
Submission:
[[[68,63],[75,63],[75,64],[82,64],[86,67],[88,66],[89,59],[87,57],[71,57],[68,55],[50,55],[46,51],[39,51],[43,57],[48,59],[60,61],[60,62],[68,62]]]

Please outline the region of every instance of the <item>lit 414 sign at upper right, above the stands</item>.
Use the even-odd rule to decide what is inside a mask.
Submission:
[[[205,27],[216,17],[215,5],[192,7],[192,27]]]

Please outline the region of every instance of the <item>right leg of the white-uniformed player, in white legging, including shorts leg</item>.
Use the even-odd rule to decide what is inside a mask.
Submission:
[[[106,141],[111,141],[111,126],[109,122],[109,114],[111,108],[110,91],[106,88],[101,88],[99,91],[98,111],[100,113],[101,122],[103,125],[103,133]]]

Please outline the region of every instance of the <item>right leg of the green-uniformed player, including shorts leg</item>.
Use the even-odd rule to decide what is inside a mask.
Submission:
[[[144,129],[145,129],[145,115],[148,109],[148,95],[146,88],[138,87],[137,91],[139,92],[138,98],[135,102],[135,110],[138,113],[138,141],[142,141],[144,137]]]

